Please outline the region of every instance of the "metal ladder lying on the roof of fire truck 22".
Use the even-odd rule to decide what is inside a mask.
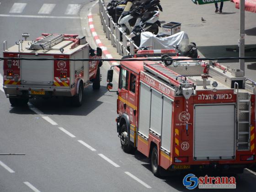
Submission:
[[[29,49],[50,49],[54,45],[64,40],[64,34],[50,34],[34,43],[32,43]]]

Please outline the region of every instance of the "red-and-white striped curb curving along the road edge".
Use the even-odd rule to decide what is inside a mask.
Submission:
[[[97,35],[94,25],[93,25],[93,19],[92,19],[92,14],[91,12],[89,12],[89,14],[87,15],[88,18],[88,23],[89,23],[89,28],[90,28],[90,32],[91,35],[94,39],[94,42],[96,43],[96,45],[102,49],[102,53],[103,56],[107,59],[113,59],[112,55],[110,54],[110,52],[107,50],[107,47],[104,46],[103,43],[101,43],[101,40],[99,38],[99,36]],[[118,64],[116,61],[109,61],[111,63],[111,65],[116,65]]]

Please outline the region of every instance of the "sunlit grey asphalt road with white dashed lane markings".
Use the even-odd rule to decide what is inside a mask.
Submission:
[[[14,3],[27,4],[21,12],[13,13],[17,11],[12,8]],[[48,17],[33,17],[42,16],[38,11],[43,3],[56,5],[51,13],[43,14]],[[30,39],[42,32],[84,33],[77,18],[79,11],[65,13],[70,13],[67,7],[71,3],[81,5],[79,10],[85,5],[86,12],[92,5],[89,1],[43,3],[1,2],[0,42],[7,40],[10,46],[23,32],[30,33]],[[185,191],[183,176],[157,178],[144,155],[125,154],[120,148],[115,125],[117,96],[106,90],[108,68],[107,63],[101,67],[101,89],[85,89],[79,108],[61,98],[31,100],[28,107],[13,108],[0,91],[0,153],[26,154],[0,155],[0,192]],[[237,191],[255,191],[253,173],[245,170],[236,178]]]

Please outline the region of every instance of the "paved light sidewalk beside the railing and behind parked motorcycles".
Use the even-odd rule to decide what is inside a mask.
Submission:
[[[226,48],[237,48],[238,45],[240,13],[234,3],[225,1],[223,14],[214,12],[214,4],[195,5],[191,0],[161,0],[160,4],[163,7],[163,12],[160,12],[160,21],[181,22],[181,30],[187,32],[190,42],[197,44],[200,57],[239,56],[239,52],[226,51]],[[92,16],[101,42],[107,47],[113,58],[122,58],[102,30],[98,4],[92,8]],[[201,17],[206,22],[202,22]],[[245,46],[246,48],[256,47],[256,14],[248,11],[245,11]],[[245,56],[256,56],[256,51],[247,52]],[[238,69],[238,62],[238,60],[226,60],[220,63]],[[255,72],[256,61],[247,61],[245,75],[256,80]]]

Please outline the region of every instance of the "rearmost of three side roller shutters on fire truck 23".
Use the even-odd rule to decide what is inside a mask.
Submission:
[[[167,97],[163,97],[163,119],[161,147],[171,152],[171,117],[172,117],[172,101]]]

